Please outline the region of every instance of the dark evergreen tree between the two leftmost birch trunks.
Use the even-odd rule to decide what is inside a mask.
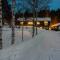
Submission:
[[[11,5],[8,4],[7,0],[2,0],[2,11],[3,20],[5,20],[9,25],[11,25],[12,19]]]

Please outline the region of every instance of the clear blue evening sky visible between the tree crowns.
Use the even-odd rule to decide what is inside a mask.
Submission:
[[[8,3],[11,4],[11,1],[12,1],[12,0],[8,0]],[[23,11],[24,9],[26,10],[26,9],[31,8],[31,7],[26,3],[27,0],[24,0],[24,3],[25,3],[24,6],[25,6],[25,8],[23,9],[23,8],[22,8],[22,5],[23,5],[22,1],[23,1],[23,0],[16,0],[15,12],[17,12],[18,10]],[[49,4],[49,6],[50,6],[50,9],[54,9],[54,10],[60,8],[60,0],[51,0],[51,3]],[[29,9],[29,10],[30,10],[30,9]]]

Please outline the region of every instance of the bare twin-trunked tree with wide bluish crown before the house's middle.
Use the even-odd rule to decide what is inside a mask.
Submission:
[[[50,3],[50,0],[28,0],[27,2],[31,6],[32,12],[33,12],[33,34],[32,34],[32,37],[33,37],[34,32],[35,32],[34,18],[36,16],[36,21],[37,21],[37,11],[47,9],[48,3]],[[37,25],[37,23],[36,23],[36,25]],[[36,34],[37,34],[37,28],[36,28]]]

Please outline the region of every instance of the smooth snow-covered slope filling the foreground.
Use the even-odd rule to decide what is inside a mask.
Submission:
[[[38,29],[34,38],[0,50],[0,60],[60,60],[60,31]]]

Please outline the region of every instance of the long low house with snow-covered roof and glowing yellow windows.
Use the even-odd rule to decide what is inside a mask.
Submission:
[[[50,26],[50,22],[51,22],[51,18],[49,17],[45,17],[45,18],[40,18],[38,17],[37,20],[36,18],[34,18],[34,26],[35,27],[42,27],[42,28],[45,28],[45,29],[48,29],[49,26]],[[30,18],[27,18],[27,19],[24,19],[23,18],[18,18],[16,20],[16,25],[19,25],[19,26],[33,26],[33,18],[30,17]]]

